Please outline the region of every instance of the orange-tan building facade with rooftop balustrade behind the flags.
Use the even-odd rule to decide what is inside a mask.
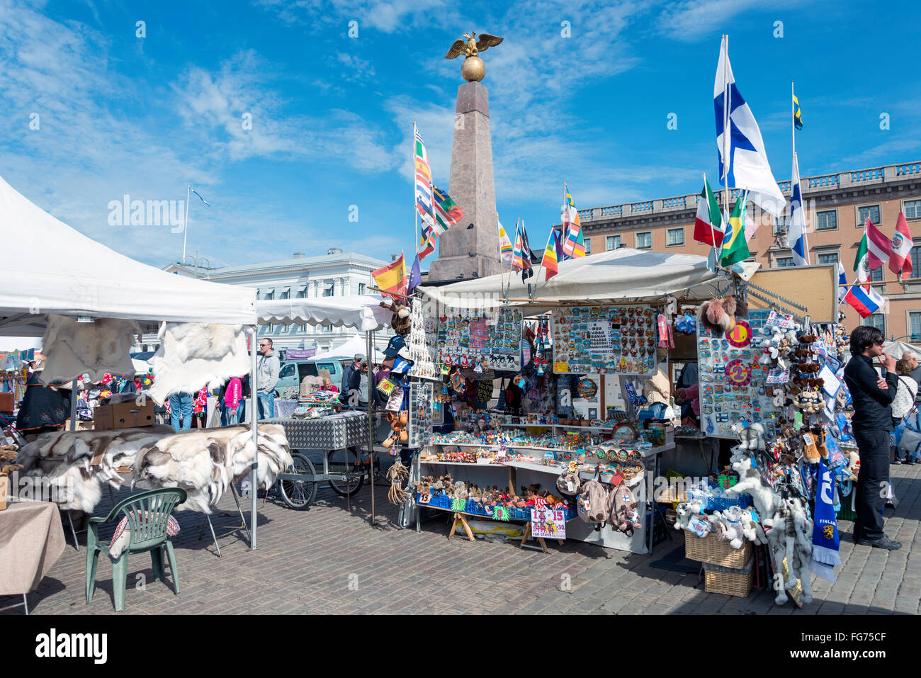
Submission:
[[[717,185],[712,185],[716,191]],[[778,185],[788,199],[790,181]],[[855,280],[854,259],[867,218],[892,238],[899,210],[904,211],[915,241],[911,251],[912,276],[900,284],[891,282],[897,276],[888,268],[872,272],[871,280],[880,283],[875,287],[890,300],[886,313],[861,321],[857,311],[846,304],[841,308],[845,311],[848,331],[858,324],[872,324],[887,337],[921,341],[921,162],[803,177],[799,185],[806,208],[810,263],[836,266],[842,262],[848,282]],[[722,193],[718,192],[720,200]],[[740,192],[729,193],[732,202]],[[579,210],[586,253],[614,250],[623,245],[638,250],[706,256],[710,248],[694,240],[694,216],[700,199],[696,194],[678,195]],[[751,201],[747,205],[748,220],[754,219],[759,225],[749,241],[749,251],[752,261],[761,263],[763,268],[793,265],[787,247],[788,214],[789,207],[784,216],[775,219],[762,213]]]

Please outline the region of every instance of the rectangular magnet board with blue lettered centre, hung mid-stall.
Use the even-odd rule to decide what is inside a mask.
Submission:
[[[656,315],[649,306],[554,310],[554,372],[647,374],[656,366]]]

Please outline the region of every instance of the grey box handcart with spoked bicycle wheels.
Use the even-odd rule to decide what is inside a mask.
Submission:
[[[342,497],[352,497],[365,483],[370,473],[373,450],[367,447],[367,413],[347,411],[312,419],[276,417],[266,423],[285,427],[291,447],[293,464],[279,473],[278,489],[292,509],[309,509],[317,497],[317,485],[326,482]],[[307,450],[323,450],[323,472],[305,454]]]

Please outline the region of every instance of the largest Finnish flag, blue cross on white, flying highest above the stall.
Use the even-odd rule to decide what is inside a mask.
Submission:
[[[787,200],[780,192],[767,161],[764,140],[752,109],[736,88],[736,79],[729,65],[729,36],[726,35],[719,46],[713,103],[717,113],[720,181],[726,181],[729,188],[747,189],[755,205],[772,216],[782,215]],[[752,223],[755,221],[752,220]]]

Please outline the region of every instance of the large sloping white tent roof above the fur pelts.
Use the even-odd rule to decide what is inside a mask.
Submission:
[[[0,178],[0,234],[10,253],[0,333],[41,336],[50,313],[136,321],[256,322],[249,287],[172,275],[70,228]],[[38,253],[29,256],[27,253]]]

